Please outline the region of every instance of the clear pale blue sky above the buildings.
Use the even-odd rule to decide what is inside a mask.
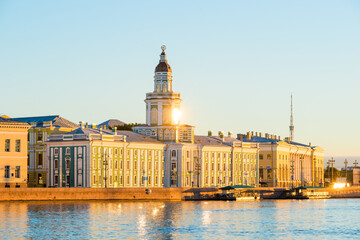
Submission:
[[[360,156],[360,1],[0,1],[0,113],[145,122],[167,46],[182,123]],[[360,160],[360,157],[358,158]]]

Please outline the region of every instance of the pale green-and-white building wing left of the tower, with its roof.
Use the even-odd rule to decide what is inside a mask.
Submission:
[[[84,127],[47,142],[51,187],[162,187],[164,147],[129,131]]]

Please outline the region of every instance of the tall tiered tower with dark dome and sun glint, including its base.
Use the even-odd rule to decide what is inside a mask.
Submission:
[[[173,91],[172,70],[161,46],[155,68],[154,90],[146,94],[146,125],[133,127],[137,133],[165,142],[194,141],[194,127],[180,124],[180,93]]]

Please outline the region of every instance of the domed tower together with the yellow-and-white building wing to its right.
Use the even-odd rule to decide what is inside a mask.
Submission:
[[[257,144],[219,136],[195,136],[180,124],[180,93],[173,92],[172,70],[162,46],[154,91],[146,94],[146,124],[133,131],[166,143],[165,187],[204,187],[258,183]]]

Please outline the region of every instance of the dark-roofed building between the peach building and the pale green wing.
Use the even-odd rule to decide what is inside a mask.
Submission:
[[[78,125],[59,115],[13,118],[31,125],[28,134],[28,186],[46,187],[48,161],[46,141],[51,134],[70,132]]]

